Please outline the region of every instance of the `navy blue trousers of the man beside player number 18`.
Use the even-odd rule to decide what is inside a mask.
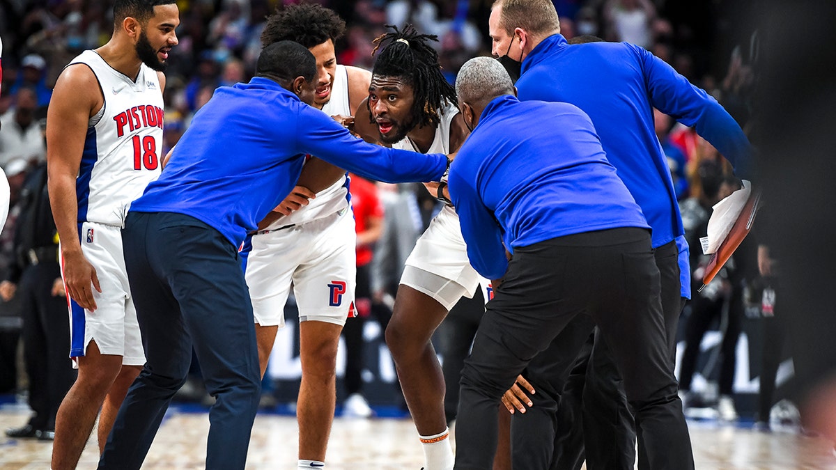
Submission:
[[[255,326],[237,248],[197,219],[130,212],[122,230],[145,368],[116,416],[99,468],[140,468],[194,348],[209,411],[206,468],[243,468],[261,392]]]

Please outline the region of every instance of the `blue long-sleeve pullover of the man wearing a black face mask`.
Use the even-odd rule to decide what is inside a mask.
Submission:
[[[652,108],[696,126],[697,134],[732,162],[737,176],[752,178],[752,151],[740,125],[710,95],[645,49],[630,43],[569,45],[554,34],[528,54],[522,72],[516,84],[520,100],[563,101],[589,115],[607,159],[653,227],[654,247],[676,238],[685,246],[685,231]],[[687,279],[687,255],[682,259]],[[683,284],[686,297],[690,285]]]

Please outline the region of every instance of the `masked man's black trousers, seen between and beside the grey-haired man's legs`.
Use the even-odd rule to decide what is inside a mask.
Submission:
[[[685,299],[681,298],[679,250],[676,243],[670,242],[655,248],[654,260],[660,272],[665,336],[673,370],[676,327],[685,306]],[[512,417],[512,455],[515,467],[571,470],[580,468],[580,463],[585,459],[590,470],[634,468],[636,432],[633,415],[619,369],[599,329],[594,329],[594,345],[575,358],[578,345],[589,336],[584,325],[589,325],[589,319],[582,316],[572,319],[568,327],[553,340],[553,345],[538,355],[523,374],[537,391],[540,388],[562,390],[562,399],[558,415],[553,419],[558,426],[555,429],[545,427],[544,420],[535,421],[525,416],[531,411]],[[592,327],[588,329],[592,330]],[[563,370],[563,364],[568,358],[576,361],[569,379],[554,373],[555,370]],[[553,409],[557,401],[550,400],[551,396],[539,396],[536,401],[533,400],[533,408],[539,406],[544,411]],[[535,411],[540,412],[543,411]],[[553,457],[548,466],[543,466],[543,452],[536,447],[543,439],[538,436],[543,434],[553,436],[555,442]],[[640,449],[642,447],[640,442]],[[640,466],[644,466],[642,459]]]

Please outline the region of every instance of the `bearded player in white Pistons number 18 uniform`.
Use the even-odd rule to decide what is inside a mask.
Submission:
[[[114,33],[60,74],[47,115],[49,201],[79,378],[55,421],[52,468],[74,468],[99,418],[99,452],[145,363],[120,228],[160,175],[165,69],[180,23],[173,0],[117,0]]]

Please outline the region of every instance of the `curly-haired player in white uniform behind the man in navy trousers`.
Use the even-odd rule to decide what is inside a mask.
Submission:
[[[333,11],[305,3],[268,17],[262,33],[265,46],[291,40],[314,54],[314,106],[339,119],[354,115],[368,95],[371,75],[337,64],[334,41],[344,29],[345,22]],[[339,334],[353,314],[356,234],[344,170],[311,157],[297,185],[247,238],[242,257],[262,375],[284,326],[284,304],[293,285],[302,360],[298,467],[322,468],[334,420]]]

